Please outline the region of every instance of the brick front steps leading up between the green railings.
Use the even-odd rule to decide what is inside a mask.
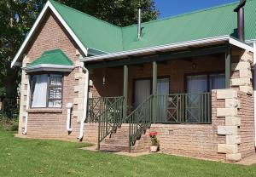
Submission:
[[[136,144],[131,146],[131,152],[149,151],[149,146],[150,138],[147,130],[145,134],[142,134],[140,140],[137,140]],[[115,133],[102,140],[100,151],[129,152],[129,125],[123,124]]]

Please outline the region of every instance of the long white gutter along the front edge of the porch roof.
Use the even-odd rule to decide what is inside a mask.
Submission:
[[[220,36],[220,37],[203,38],[203,39],[187,41],[183,43],[172,43],[172,44],[160,45],[160,46],[150,47],[145,49],[135,49],[135,50],[128,50],[128,51],[122,51],[117,53],[91,56],[91,57],[86,57],[81,61],[86,62],[86,61],[92,61],[92,60],[104,60],[109,58],[125,57],[132,54],[154,53],[154,52],[157,52],[160,50],[166,50],[166,49],[178,49],[178,48],[184,48],[184,47],[195,46],[200,44],[224,42],[224,41],[229,41],[229,39],[230,39],[230,36],[228,35]]]

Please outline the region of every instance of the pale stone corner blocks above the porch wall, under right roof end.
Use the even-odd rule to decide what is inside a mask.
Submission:
[[[238,62],[231,64],[233,74],[237,72],[236,77],[231,78],[231,88],[238,88],[242,92],[253,94],[253,54],[246,50],[238,54],[238,58]]]

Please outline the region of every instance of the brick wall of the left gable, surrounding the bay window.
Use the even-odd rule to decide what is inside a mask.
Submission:
[[[67,31],[61,26],[61,23],[54,14],[49,13],[45,17],[44,24],[37,35],[33,38],[31,46],[26,49],[27,57],[32,61],[36,60],[46,50],[61,49],[73,64],[79,61],[79,56],[76,55],[76,49],[79,47],[74,43],[73,39],[68,35]],[[79,136],[80,123],[76,123],[76,119],[72,118],[71,127],[73,131],[68,134],[66,130],[67,109],[68,102],[73,103],[73,98],[78,94],[74,93],[74,85],[77,80],[74,79],[74,74],[79,72],[79,67],[76,67],[72,72],[67,72],[63,80],[63,102],[61,112],[46,113],[38,109],[28,113],[27,136],[32,138],[49,138],[49,139],[63,139],[63,140],[77,140]],[[73,111],[77,107],[73,107]],[[84,140],[96,142],[97,140],[97,125],[84,125]]]

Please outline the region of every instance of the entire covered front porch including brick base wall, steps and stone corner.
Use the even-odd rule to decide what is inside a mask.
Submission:
[[[231,142],[225,138],[234,138],[232,146],[239,143],[237,95],[239,90],[250,94],[251,87],[245,83],[250,80],[247,54],[223,43],[86,62],[91,80],[87,123],[98,123],[98,149],[148,151],[139,148],[148,146],[148,132],[156,130],[163,151],[238,159],[235,149],[224,148]],[[230,126],[236,129],[227,135],[230,130],[221,128]]]

